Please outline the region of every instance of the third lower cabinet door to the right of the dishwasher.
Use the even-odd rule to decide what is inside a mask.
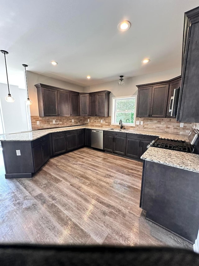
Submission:
[[[127,138],[126,156],[134,159],[140,158],[140,140],[134,138]]]

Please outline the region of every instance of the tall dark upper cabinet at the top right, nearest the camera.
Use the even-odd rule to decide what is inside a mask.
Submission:
[[[183,36],[183,71],[177,120],[199,122],[199,7],[185,13]]]

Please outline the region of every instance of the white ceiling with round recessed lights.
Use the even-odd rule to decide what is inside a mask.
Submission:
[[[24,86],[21,64],[81,86],[180,67],[184,12],[197,6],[199,0],[1,1],[9,83]],[[123,20],[131,22],[128,31],[117,29]],[[6,83],[3,54],[0,73]]]

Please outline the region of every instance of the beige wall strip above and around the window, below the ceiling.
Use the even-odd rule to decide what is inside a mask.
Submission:
[[[151,74],[136,76],[132,78],[125,79],[125,85],[119,87],[118,81],[111,81],[107,83],[102,83],[99,85],[84,87],[84,92],[94,92],[99,90],[109,90],[110,94],[110,105],[109,105],[109,115],[111,115],[111,98],[119,96],[130,96],[137,94],[136,85],[146,84],[151,82],[158,82],[164,80],[170,80],[181,75],[181,68],[174,68],[170,70],[155,72]],[[119,78],[118,78],[119,80]]]

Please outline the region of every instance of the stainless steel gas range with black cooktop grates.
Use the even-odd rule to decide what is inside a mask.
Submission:
[[[199,132],[192,128],[188,135],[188,141],[176,140],[168,138],[157,138],[153,140],[148,146],[162,149],[169,149],[179,152],[192,152],[199,154]]]

